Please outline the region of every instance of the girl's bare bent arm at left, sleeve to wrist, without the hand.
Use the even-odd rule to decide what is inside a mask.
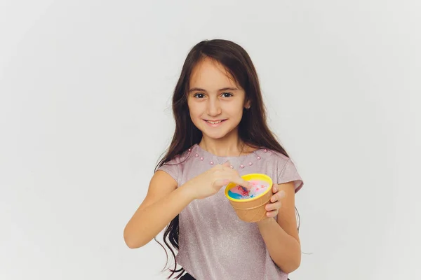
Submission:
[[[152,176],[145,200],[124,228],[126,245],[139,248],[147,244],[193,200],[189,188],[177,188],[173,177],[158,170]]]

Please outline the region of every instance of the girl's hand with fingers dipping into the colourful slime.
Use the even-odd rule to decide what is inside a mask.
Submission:
[[[194,199],[201,200],[215,195],[223,186],[231,182],[250,188],[250,183],[242,179],[239,173],[230,167],[229,162],[225,162],[187,181],[185,187],[192,191]]]

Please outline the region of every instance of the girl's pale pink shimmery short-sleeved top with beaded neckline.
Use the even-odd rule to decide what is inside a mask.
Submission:
[[[178,186],[229,160],[239,174],[267,174],[274,183],[295,183],[295,193],[303,186],[293,162],[281,153],[259,149],[239,157],[218,157],[194,144],[189,151],[158,170],[170,174]],[[199,188],[199,186],[198,186]],[[225,187],[203,200],[194,200],[179,216],[179,245],[176,260],[195,279],[287,280],[267,251],[255,223],[241,221]]]

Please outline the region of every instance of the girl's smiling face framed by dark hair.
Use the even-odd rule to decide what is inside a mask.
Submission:
[[[237,133],[243,108],[249,106],[244,90],[211,59],[204,59],[193,69],[187,104],[194,125],[203,137],[211,139]]]

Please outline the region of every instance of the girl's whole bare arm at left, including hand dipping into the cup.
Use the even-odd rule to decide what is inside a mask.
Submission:
[[[145,200],[124,229],[124,241],[127,246],[144,246],[190,202],[215,195],[229,182],[249,187],[250,183],[242,179],[229,165],[229,162],[215,165],[180,187],[177,187],[177,182],[166,172],[155,172]]]

